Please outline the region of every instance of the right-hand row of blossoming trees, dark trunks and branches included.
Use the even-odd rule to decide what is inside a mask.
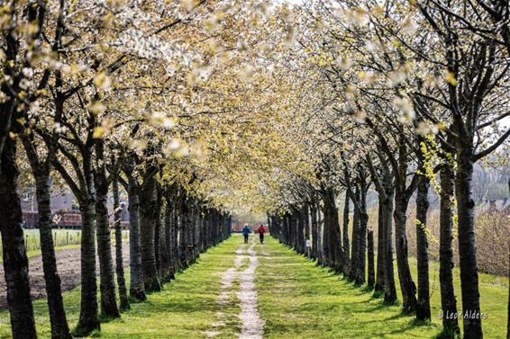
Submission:
[[[442,312],[462,315],[466,338],[483,337],[473,165],[489,155],[486,165],[508,162],[496,149],[507,146],[510,135],[503,19],[509,13],[502,2],[318,0],[293,8],[297,42],[278,58],[282,76],[295,76],[302,95],[294,124],[281,132],[302,146],[314,172],[282,179],[269,212],[274,235],[300,253],[311,239],[319,263],[368,281],[388,303],[397,299],[395,254],[403,308],[431,319],[427,210],[435,190]],[[377,232],[368,227],[370,187],[378,194]],[[417,281],[406,236],[413,199]],[[462,312],[453,245],[459,246]],[[446,336],[460,333],[457,317],[442,323]]]

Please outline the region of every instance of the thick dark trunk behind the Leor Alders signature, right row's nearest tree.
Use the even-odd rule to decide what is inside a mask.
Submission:
[[[459,216],[460,290],[462,290],[463,328],[466,339],[483,337],[475,241],[475,201],[471,193],[472,157],[470,147],[458,148],[455,195]]]

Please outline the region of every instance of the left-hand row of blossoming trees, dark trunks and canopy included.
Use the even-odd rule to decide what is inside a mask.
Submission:
[[[255,75],[250,64],[261,53],[252,27],[268,20],[268,8],[216,0],[0,3],[0,231],[14,338],[37,336],[22,187],[36,187],[52,338],[71,337],[51,236],[52,190],[72,192],[82,217],[74,335],[99,329],[98,308],[120,317],[128,296],[144,300],[229,236],[230,211],[244,201],[262,205],[247,192],[269,176],[266,169],[287,162],[275,156],[280,138],[267,121],[276,97],[269,71]]]

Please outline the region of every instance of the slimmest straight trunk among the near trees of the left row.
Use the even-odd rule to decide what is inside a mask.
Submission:
[[[114,227],[115,227],[115,272],[117,273],[117,285],[119,288],[119,299],[121,301],[121,311],[130,308],[129,299],[126,289],[126,281],[124,277],[123,264],[123,227],[121,225],[122,209],[119,193],[119,180],[114,175],[113,192],[114,192]]]

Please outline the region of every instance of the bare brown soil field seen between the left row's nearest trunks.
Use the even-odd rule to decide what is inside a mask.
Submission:
[[[96,252],[97,253],[97,252]],[[81,282],[80,271],[80,249],[73,248],[57,251],[57,267],[62,290],[72,290]],[[115,258],[114,247],[112,248],[112,258]],[[96,259],[96,272],[99,273],[99,261]],[[115,259],[114,259],[115,263]],[[129,244],[123,244],[123,263],[129,265]],[[44,273],[42,272],[41,255],[32,256],[29,259],[30,290],[32,299],[46,298],[44,283]],[[99,284],[99,281],[97,281]],[[0,265],[0,309],[7,308],[7,287],[4,278],[4,265]]]

